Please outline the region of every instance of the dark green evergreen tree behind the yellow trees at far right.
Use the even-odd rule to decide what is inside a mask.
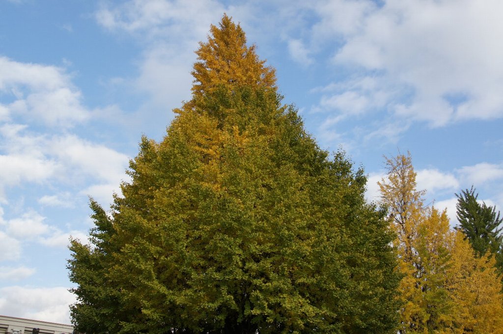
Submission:
[[[500,217],[499,211],[496,213],[496,206],[487,206],[484,202],[480,204],[473,186],[462,190],[456,197],[457,229],[465,234],[478,257],[487,252],[494,255],[496,267],[503,273],[503,226],[500,227],[503,216]]]

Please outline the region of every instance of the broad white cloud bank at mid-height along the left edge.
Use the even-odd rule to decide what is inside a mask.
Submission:
[[[92,178],[119,184],[125,178],[129,158],[101,144],[75,135],[40,136],[20,125],[0,127],[0,190],[22,182],[65,181]],[[48,203],[54,198],[46,197]]]

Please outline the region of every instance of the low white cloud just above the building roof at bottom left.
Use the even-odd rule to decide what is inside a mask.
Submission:
[[[0,288],[0,314],[23,318],[70,323],[69,305],[75,301],[75,295],[66,287]]]

